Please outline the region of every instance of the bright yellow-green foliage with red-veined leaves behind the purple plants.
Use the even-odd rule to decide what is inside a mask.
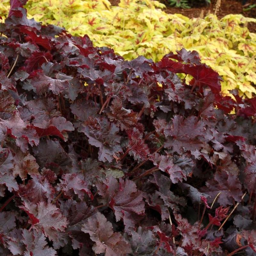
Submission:
[[[2,0],[3,16],[9,1]],[[96,46],[109,46],[125,59],[139,55],[160,60],[182,47],[199,52],[203,62],[223,77],[222,91],[238,88],[241,95],[256,94],[256,34],[248,22],[256,19],[227,15],[218,20],[189,19],[167,14],[164,4],[151,0],[32,0],[26,5],[28,17],[65,27],[73,35],[88,34]]]

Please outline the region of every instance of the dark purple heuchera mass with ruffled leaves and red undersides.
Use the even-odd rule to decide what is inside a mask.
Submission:
[[[222,97],[196,52],[124,61],[25,2],[0,25],[1,255],[255,255],[256,98]]]

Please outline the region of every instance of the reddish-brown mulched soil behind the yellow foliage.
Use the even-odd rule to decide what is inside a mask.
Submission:
[[[120,1],[119,0],[109,0],[109,2],[112,5],[118,5]],[[168,5],[168,0],[162,0],[160,2],[162,2],[166,5],[167,9],[165,9],[164,11],[167,13],[171,13],[171,14],[181,13],[184,16],[187,16],[189,18],[194,18],[194,17],[199,17],[202,10],[204,11],[204,15],[206,15],[209,11],[211,13],[214,13],[215,4],[216,4],[217,0],[212,0],[211,1],[212,3],[209,4],[208,6],[206,6],[206,4],[203,3],[204,1],[202,1],[202,3],[199,1],[194,1],[194,2],[196,2],[196,4],[190,9],[180,9],[180,8],[171,7],[170,5]],[[256,18],[256,7],[252,8],[250,11],[243,11],[243,8],[248,7],[250,4],[256,4],[256,0],[247,0],[246,6],[242,5],[242,0],[222,0],[220,9],[217,12],[217,16],[219,18],[222,18],[228,14],[242,14],[245,17]],[[249,22],[248,29],[251,32],[256,33],[256,23]]]

